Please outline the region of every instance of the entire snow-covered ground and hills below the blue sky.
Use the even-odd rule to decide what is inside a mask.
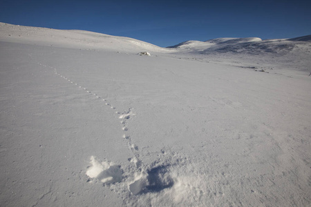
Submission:
[[[1,206],[310,206],[310,39],[0,23]]]

